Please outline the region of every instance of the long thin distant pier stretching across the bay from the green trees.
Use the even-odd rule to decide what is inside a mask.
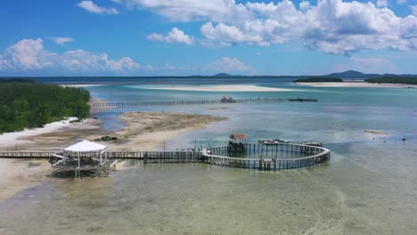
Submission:
[[[284,101],[317,101],[315,99],[246,99],[233,101],[93,101],[88,102],[91,107],[135,107],[135,106],[176,106],[176,105],[203,105],[217,103],[274,103]]]

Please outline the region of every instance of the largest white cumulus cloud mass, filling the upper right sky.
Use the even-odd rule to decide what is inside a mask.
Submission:
[[[404,0],[399,0],[404,1]],[[417,17],[397,16],[387,0],[369,2],[290,0],[237,4],[234,0],[117,0],[174,21],[201,22],[201,45],[261,45],[297,42],[323,53],[417,50]],[[415,8],[413,8],[415,9]],[[153,35],[155,40],[165,36]],[[216,46],[213,46],[216,47]]]

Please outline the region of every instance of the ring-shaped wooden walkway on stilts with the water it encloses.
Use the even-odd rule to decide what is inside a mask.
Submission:
[[[331,158],[330,150],[298,143],[239,143],[202,150],[209,164],[282,170],[323,163]]]

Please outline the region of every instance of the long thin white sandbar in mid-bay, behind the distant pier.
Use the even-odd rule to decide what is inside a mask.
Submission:
[[[173,86],[136,86],[141,89],[195,91],[195,92],[290,92],[295,89],[284,89],[258,85],[173,85]]]

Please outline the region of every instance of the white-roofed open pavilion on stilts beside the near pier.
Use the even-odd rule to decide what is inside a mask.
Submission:
[[[61,159],[52,167],[57,171],[74,171],[76,178],[82,172],[107,175],[115,170],[117,160],[108,159],[105,152],[106,146],[85,140],[53,154],[53,157]]]

